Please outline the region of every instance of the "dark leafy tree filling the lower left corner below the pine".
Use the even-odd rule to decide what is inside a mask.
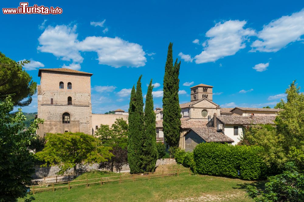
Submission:
[[[1,87],[0,87],[1,88]],[[27,149],[36,138],[36,129],[43,120],[36,119],[25,129],[22,110],[14,114],[11,97],[0,101],[0,201],[16,201],[26,196],[26,185],[34,172],[33,154]]]

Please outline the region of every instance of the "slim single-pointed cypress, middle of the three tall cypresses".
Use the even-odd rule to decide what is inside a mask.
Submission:
[[[143,136],[143,170],[153,172],[157,161],[155,113],[152,96],[152,79],[150,81],[145,105],[145,132]]]

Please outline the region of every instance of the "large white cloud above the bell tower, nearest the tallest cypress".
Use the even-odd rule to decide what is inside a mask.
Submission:
[[[210,39],[202,44],[204,50],[194,57],[195,63],[214,62],[226,56],[233,56],[240,49],[244,49],[247,37],[255,35],[254,30],[243,28],[246,23],[246,21],[229,20],[219,22],[209,29],[206,37]]]

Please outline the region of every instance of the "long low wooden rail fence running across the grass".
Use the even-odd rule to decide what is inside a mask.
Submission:
[[[174,171],[174,172],[171,172],[171,171]],[[90,184],[102,185],[103,183],[106,183],[106,182],[115,182],[115,181],[116,182],[119,181],[119,183],[121,183],[123,180],[133,180],[133,182],[134,182],[135,179],[143,178],[143,177],[146,177],[150,180],[151,177],[157,177],[157,176],[164,177],[166,175],[175,175],[175,174],[177,174],[177,176],[178,176],[181,173],[189,173],[189,175],[190,175],[191,170],[190,170],[190,168],[182,168],[182,169],[174,169],[174,170],[149,172],[149,173],[138,173],[138,174],[119,175],[119,176],[112,176],[112,177],[100,177],[100,178],[95,178],[95,179],[74,180],[74,181],[68,181],[68,182],[57,182],[57,183],[50,183],[50,184],[32,185],[32,186],[30,186],[30,192],[32,191],[33,194],[35,194],[35,192],[37,192],[37,191],[47,191],[47,190],[55,191],[55,189],[62,188],[62,187],[67,187],[68,190],[70,190],[71,187],[77,187],[79,185],[86,185],[88,187]],[[81,182],[81,183],[75,184],[75,182],[78,182],[78,183]],[[67,185],[60,186],[60,184],[66,184],[66,183],[67,183]],[[57,185],[59,185],[59,186],[57,186]],[[44,187],[47,186],[47,187],[41,188],[43,186]]]

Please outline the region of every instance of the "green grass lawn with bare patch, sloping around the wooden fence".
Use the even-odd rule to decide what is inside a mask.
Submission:
[[[156,171],[184,168],[178,164],[163,165]],[[121,173],[126,175],[129,173]],[[119,173],[90,172],[75,180],[116,176]],[[263,181],[245,181],[207,175],[152,177],[119,182],[66,187],[36,193],[36,201],[252,201],[245,198],[245,185],[260,186]],[[31,196],[33,196],[31,194]],[[19,200],[23,201],[23,200]]]

